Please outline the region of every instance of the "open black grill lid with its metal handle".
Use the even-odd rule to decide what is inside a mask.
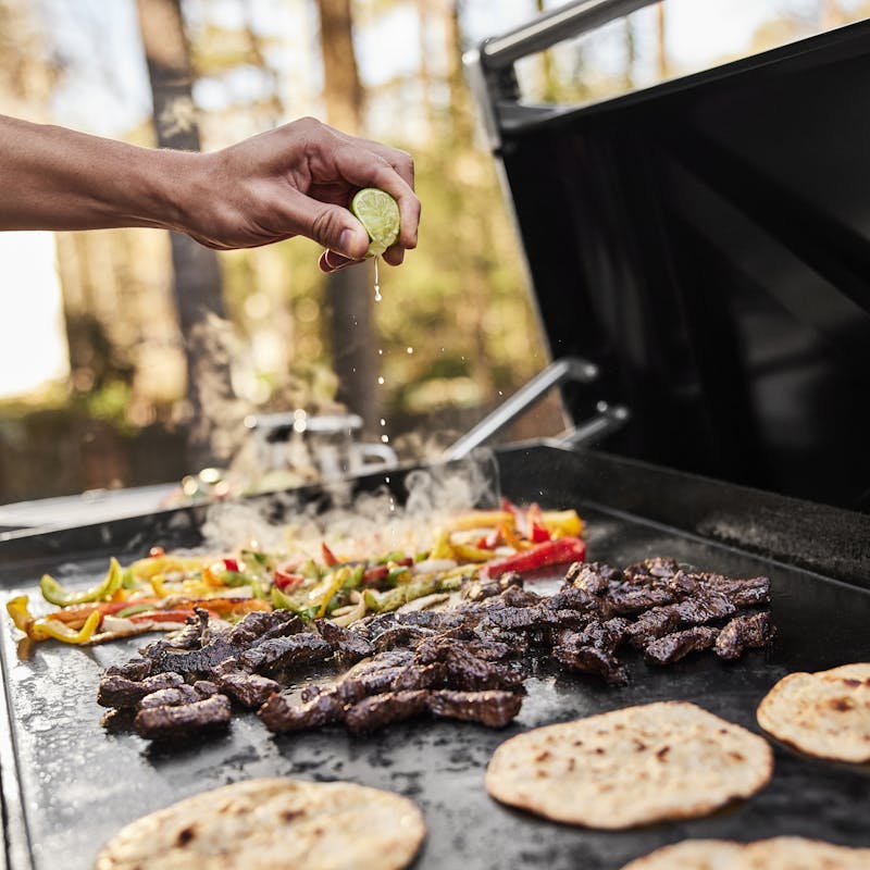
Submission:
[[[575,420],[625,456],[870,510],[870,23],[585,107],[514,63],[645,0],[584,0],[467,58]]]

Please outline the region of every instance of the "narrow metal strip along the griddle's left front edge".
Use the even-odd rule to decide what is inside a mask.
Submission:
[[[2,870],[34,870],[30,853],[30,836],[27,817],[24,811],[24,796],[18,779],[18,756],[12,728],[12,700],[9,697],[5,674],[9,662],[2,643],[0,627],[0,800],[2,801],[3,852],[0,858]]]

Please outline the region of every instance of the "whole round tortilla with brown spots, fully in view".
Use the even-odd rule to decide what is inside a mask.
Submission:
[[[772,772],[762,737],[666,701],[511,737],[489,762],[486,788],[548,819],[620,829],[704,816],[755,794]]]

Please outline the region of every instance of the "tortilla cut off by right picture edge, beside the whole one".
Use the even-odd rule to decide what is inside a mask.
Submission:
[[[870,662],[791,673],[758,707],[758,724],[818,758],[870,761]]]

